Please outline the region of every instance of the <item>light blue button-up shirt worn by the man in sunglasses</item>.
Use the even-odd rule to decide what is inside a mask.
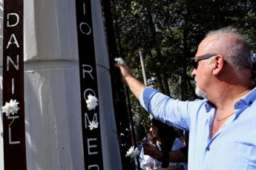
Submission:
[[[189,170],[256,169],[256,88],[234,103],[235,114],[211,138],[216,108],[208,100],[179,101],[147,87],[140,103],[157,120],[189,131]]]

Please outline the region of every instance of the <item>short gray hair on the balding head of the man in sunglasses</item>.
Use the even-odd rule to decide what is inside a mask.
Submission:
[[[252,52],[249,43],[234,27],[210,31],[206,37],[213,34],[217,35],[217,38],[209,43],[204,49],[205,52],[223,55],[236,72],[241,68],[252,69]]]

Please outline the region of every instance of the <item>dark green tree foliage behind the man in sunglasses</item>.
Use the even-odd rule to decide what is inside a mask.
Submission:
[[[246,36],[252,50],[256,47],[255,0],[118,0],[116,37],[121,57],[131,72],[142,81],[139,48],[151,86],[165,95],[193,100],[194,81],[190,78],[191,60],[197,46],[209,30],[237,27]],[[118,30],[117,30],[118,29]],[[143,126],[148,113],[131,96],[134,115]],[[147,129],[145,127],[145,129]]]

